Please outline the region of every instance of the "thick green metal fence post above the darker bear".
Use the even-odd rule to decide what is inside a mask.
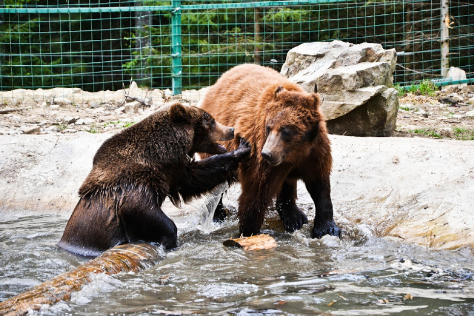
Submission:
[[[171,76],[173,95],[181,94],[183,74],[181,54],[181,0],[171,0]]]

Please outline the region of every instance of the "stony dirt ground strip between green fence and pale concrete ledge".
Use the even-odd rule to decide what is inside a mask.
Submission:
[[[25,91],[31,92],[23,90],[22,93]],[[48,95],[45,91],[48,90],[42,94]],[[54,93],[49,94],[51,97],[35,100],[18,101],[12,97],[5,102],[3,99],[3,104],[0,103],[0,134],[116,132],[173,101],[196,105],[203,95],[195,90],[175,97],[167,97],[166,91],[157,92],[157,89],[150,93],[140,89],[135,92],[132,98],[126,97],[126,93],[112,92],[115,97],[107,101],[84,101],[84,97],[70,101],[65,97],[55,98]],[[79,96],[87,94],[77,88],[74,93]],[[400,97],[399,102],[393,136],[474,139],[473,85],[445,87],[434,91],[432,96],[407,93]]]

